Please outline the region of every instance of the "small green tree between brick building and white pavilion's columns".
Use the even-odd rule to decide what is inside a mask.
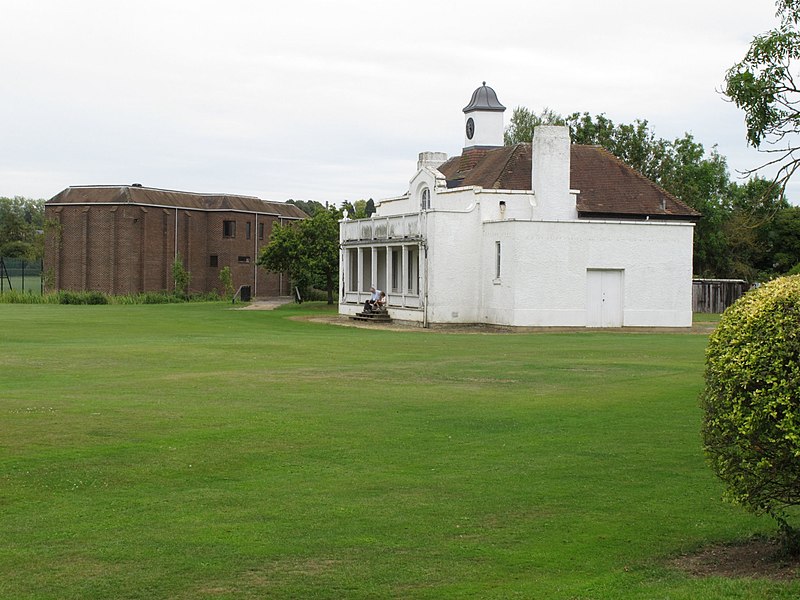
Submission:
[[[309,219],[275,225],[258,264],[273,272],[288,272],[304,293],[312,287],[325,289],[328,304],[339,273],[339,219],[335,208],[319,210]]]

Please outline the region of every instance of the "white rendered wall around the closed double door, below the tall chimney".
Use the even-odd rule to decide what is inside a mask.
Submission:
[[[586,326],[587,269],[621,269],[624,326],[691,326],[691,224],[505,222],[486,223],[484,232],[487,323]],[[487,276],[497,241],[499,281]]]

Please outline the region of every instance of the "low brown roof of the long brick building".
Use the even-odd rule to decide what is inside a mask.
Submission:
[[[267,202],[254,196],[198,194],[134,185],[68,187],[53,196],[46,204],[139,204],[193,210],[257,212],[293,219],[305,219],[308,216],[293,204]]]

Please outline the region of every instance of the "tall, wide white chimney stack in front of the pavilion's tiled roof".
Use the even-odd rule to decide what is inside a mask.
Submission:
[[[546,221],[578,218],[575,197],[569,185],[569,128],[540,125],[533,131],[531,187],[536,217]]]

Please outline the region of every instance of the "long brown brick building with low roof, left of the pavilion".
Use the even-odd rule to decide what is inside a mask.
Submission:
[[[192,292],[221,291],[219,272],[253,295],[291,293],[285,274],[256,265],[275,223],[303,219],[292,204],[250,196],[130,186],[69,187],[45,203],[44,269],[57,290],[172,291],[180,255]]]

